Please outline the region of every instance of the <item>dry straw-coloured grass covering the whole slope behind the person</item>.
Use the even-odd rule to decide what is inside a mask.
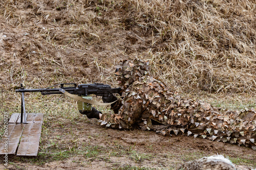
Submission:
[[[32,46],[39,53],[31,56],[27,51],[16,58],[29,58],[28,64],[46,74],[48,70],[65,76],[75,72],[78,79],[79,74],[87,75],[81,74],[86,71],[82,66],[91,66],[104,81],[111,71],[105,68],[114,65],[104,60],[130,56],[151,60],[155,76],[180,91],[253,93],[256,87],[254,1],[33,0],[1,4],[5,4],[0,10],[6,26],[33,34],[26,50]],[[134,42],[125,45],[127,39],[140,46]],[[71,48],[76,58],[65,57]],[[15,81],[12,77],[17,72],[25,76],[10,64],[4,69],[12,75],[6,80]],[[17,82],[28,79],[30,76]]]

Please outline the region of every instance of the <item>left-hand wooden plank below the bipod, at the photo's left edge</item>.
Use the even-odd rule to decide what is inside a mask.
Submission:
[[[19,139],[22,136],[24,124],[8,124],[8,152],[5,152],[5,138],[2,138],[0,142],[1,151],[0,155],[9,154],[9,155],[15,155]],[[10,132],[9,132],[10,130]]]

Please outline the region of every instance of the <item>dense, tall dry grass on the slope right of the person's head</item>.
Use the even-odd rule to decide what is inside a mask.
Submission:
[[[138,13],[151,16],[145,25],[155,28],[159,46],[148,55],[167,83],[182,90],[255,90],[254,1],[135,2]]]

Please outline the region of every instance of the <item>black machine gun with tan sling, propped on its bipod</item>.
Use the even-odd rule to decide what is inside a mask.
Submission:
[[[55,86],[60,86],[60,88],[53,88]],[[80,84],[77,85],[75,83],[60,83],[54,86],[50,86],[47,88],[39,88],[39,89],[25,89],[23,84],[20,84],[20,89],[15,90],[16,92],[22,93],[22,114],[20,117],[20,121],[26,123],[26,110],[25,110],[25,100],[24,93],[25,92],[41,92],[42,95],[47,94],[65,94],[70,98],[78,100],[83,103],[94,104],[94,105],[110,105],[112,103],[100,103],[88,99],[82,98],[82,96],[88,96],[91,94],[95,94],[96,96],[103,96],[103,94],[108,93],[118,93],[121,95],[121,88],[111,88],[108,84],[103,83],[94,83],[94,84]]]

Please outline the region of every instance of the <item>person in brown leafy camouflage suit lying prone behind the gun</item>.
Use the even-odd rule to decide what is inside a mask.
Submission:
[[[120,99],[113,94],[102,100],[111,105],[114,114],[97,111],[81,112],[88,118],[100,119],[112,128],[154,130],[163,135],[183,133],[187,136],[237,143],[256,150],[256,112],[222,111],[208,103],[184,100],[170,91],[148,72],[148,63],[123,61],[117,74],[122,88]]]

